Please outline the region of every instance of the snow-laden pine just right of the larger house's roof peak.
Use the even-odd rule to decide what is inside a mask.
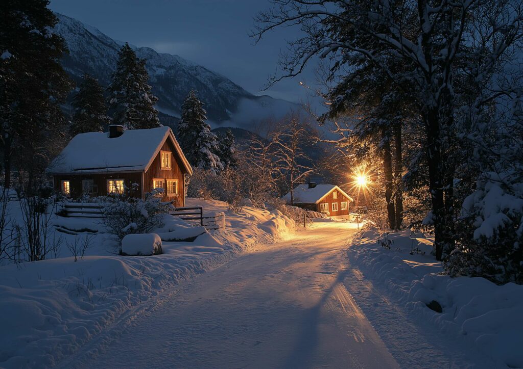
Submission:
[[[206,123],[206,114],[196,91],[191,90],[181,106],[178,140],[191,165],[217,174],[224,167],[216,154],[219,152],[218,138]]]

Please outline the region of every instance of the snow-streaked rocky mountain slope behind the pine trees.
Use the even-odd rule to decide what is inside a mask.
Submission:
[[[55,32],[65,39],[69,48],[69,54],[63,58],[64,69],[76,82],[88,73],[108,86],[122,42],[76,19],[55,15],[59,19]],[[221,74],[177,55],[158,53],[150,47],[131,47],[138,57],[146,59],[152,92],[159,99],[157,109],[164,113],[162,121],[170,118],[169,125],[176,120],[172,117],[179,117],[181,104],[191,89],[198,90],[214,127],[249,129],[265,118],[278,118],[300,108],[289,101],[255,96]]]

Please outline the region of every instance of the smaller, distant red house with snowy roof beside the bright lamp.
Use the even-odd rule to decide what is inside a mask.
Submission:
[[[291,193],[282,197],[290,203]],[[303,209],[322,212],[333,218],[347,218],[350,213],[350,203],[354,199],[341,188],[332,184],[316,184],[310,182],[294,188],[294,206]]]

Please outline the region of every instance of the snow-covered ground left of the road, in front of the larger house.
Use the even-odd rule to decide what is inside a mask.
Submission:
[[[187,206],[225,212],[226,228],[207,232],[166,216],[155,233],[196,239],[163,242],[163,255],[146,257],[119,256],[96,219],[55,217],[56,236],[70,243],[88,236],[92,247],[76,262],[62,247],[54,259],[0,267],[0,367],[52,366],[180,281],[294,231],[294,222],[277,210],[245,207],[235,214],[221,201],[199,199],[187,199]],[[10,203],[10,215],[19,216],[17,201]]]

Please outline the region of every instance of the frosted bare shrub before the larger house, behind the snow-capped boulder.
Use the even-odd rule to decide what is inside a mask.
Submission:
[[[170,203],[163,203],[156,192],[145,194],[145,199],[114,196],[106,198],[103,223],[109,233],[122,240],[130,233],[149,233],[156,227],[162,227],[163,215],[173,209]]]

